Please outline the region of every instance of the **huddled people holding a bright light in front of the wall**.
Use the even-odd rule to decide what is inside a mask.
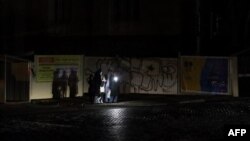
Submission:
[[[107,74],[103,74],[98,69],[88,78],[89,96],[91,103],[115,103],[120,92],[118,74],[109,69]]]

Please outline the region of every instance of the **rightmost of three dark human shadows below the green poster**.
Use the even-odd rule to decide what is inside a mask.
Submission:
[[[69,78],[68,78],[68,85],[69,85],[69,96],[70,98],[74,98],[78,93],[78,76],[77,71],[71,69]]]

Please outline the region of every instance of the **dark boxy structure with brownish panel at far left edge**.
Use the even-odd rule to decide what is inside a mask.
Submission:
[[[0,55],[0,103],[28,102],[29,85],[29,61]]]

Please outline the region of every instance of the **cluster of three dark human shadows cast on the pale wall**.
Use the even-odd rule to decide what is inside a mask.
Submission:
[[[61,72],[62,71],[62,72]],[[71,69],[67,75],[66,70],[56,69],[53,74],[52,94],[54,99],[65,98],[67,96],[67,87],[69,86],[69,96],[73,98],[78,93],[77,71]]]

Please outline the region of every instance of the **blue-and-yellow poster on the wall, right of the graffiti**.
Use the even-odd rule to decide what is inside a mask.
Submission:
[[[182,92],[229,93],[227,58],[182,57],[180,71]]]

